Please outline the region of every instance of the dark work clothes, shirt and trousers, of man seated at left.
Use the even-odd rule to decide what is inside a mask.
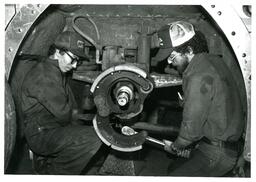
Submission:
[[[74,96],[57,60],[36,64],[22,85],[25,137],[36,154],[51,158],[49,174],[80,174],[101,141],[91,126],[72,125]]]

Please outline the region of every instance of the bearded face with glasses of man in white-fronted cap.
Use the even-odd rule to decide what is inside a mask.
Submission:
[[[187,68],[189,60],[185,54],[173,51],[168,57],[168,63],[172,64],[182,74]]]

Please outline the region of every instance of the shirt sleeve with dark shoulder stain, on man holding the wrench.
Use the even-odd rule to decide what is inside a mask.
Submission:
[[[183,87],[185,101],[183,120],[176,147],[184,148],[203,136],[203,126],[207,120],[213,96],[213,78],[208,75],[194,75]]]

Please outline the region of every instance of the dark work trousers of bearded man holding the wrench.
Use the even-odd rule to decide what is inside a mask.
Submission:
[[[232,170],[237,152],[200,142],[189,159],[180,166],[170,165],[169,176],[218,177]],[[177,162],[179,163],[179,162]]]

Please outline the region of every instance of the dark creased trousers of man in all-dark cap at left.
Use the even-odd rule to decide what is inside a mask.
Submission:
[[[80,174],[101,146],[91,126],[42,130],[26,138],[33,152],[51,159],[49,174]]]

